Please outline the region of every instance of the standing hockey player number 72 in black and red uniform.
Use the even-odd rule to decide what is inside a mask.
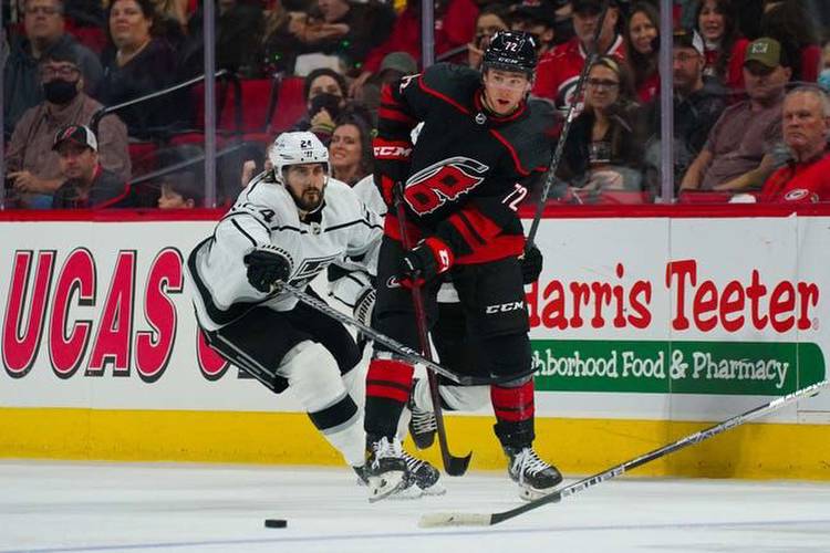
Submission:
[[[429,325],[445,276],[470,334],[483,348],[479,371],[504,384],[490,387],[495,431],[508,472],[523,498],[551,491],[562,479],[532,449],[533,380],[528,315],[518,257],[525,236],[517,215],[527,186],[548,167],[554,111],[528,100],[536,67],[531,35],[497,33],[481,73],[438,64],[386,86],[374,140],[375,180],[390,206],[377,265],[373,326],[418,347],[412,294],[423,286]],[[424,123],[417,145],[411,129]],[[392,209],[404,187],[407,233],[402,246]],[[395,434],[414,367],[375,345],[366,376],[366,461],[373,499],[395,493],[409,478]]]

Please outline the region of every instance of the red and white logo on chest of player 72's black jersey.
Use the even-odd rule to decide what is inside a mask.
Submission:
[[[406,204],[416,213],[430,213],[481,184],[488,169],[481,161],[464,156],[433,164],[406,181]]]

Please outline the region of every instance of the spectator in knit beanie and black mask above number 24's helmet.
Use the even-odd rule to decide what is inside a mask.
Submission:
[[[293,131],[311,131],[323,143],[329,142],[334,119],[345,107],[346,92],[345,77],[336,71],[321,67],[309,73],[303,88],[308,112]]]

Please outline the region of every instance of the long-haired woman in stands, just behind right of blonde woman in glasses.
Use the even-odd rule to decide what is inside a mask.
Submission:
[[[625,52],[629,66],[634,73],[634,88],[642,103],[651,102],[660,92],[658,41],[657,10],[649,2],[635,4],[625,28]]]

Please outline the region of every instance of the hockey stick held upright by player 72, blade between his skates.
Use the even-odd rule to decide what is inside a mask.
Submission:
[[[401,182],[395,185],[395,210],[397,211],[397,225],[401,229],[401,242],[407,250],[412,249],[412,241],[406,229],[406,210],[404,209],[403,186]],[[412,304],[415,309],[415,325],[418,330],[418,342],[421,342],[421,352],[428,361],[433,361],[433,349],[429,345],[429,333],[426,328],[426,314],[424,313],[424,298],[421,294],[421,286],[413,285]],[[426,377],[429,383],[429,397],[433,399],[433,413],[435,413],[435,426],[438,434],[438,447],[440,457],[444,461],[444,470],[450,477],[460,477],[467,472],[473,452],[466,457],[455,457],[449,451],[447,444],[447,430],[444,427],[444,414],[440,408],[440,392],[438,389],[438,377],[436,372],[427,366]]]

